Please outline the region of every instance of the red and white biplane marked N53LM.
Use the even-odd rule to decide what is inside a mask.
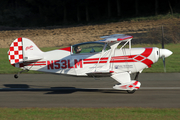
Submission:
[[[48,52],[42,52],[30,39],[17,38],[8,51],[9,62],[23,70],[76,76],[109,76],[119,82],[113,86],[114,89],[134,93],[141,85],[137,80],[139,73],[151,67],[159,58],[172,54],[170,50],[157,47],[131,48],[133,37],[129,35],[114,34],[101,38],[103,40]],[[137,73],[134,80],[130,78],[131,73]],[[18,75],[14,77],[18,78]]]

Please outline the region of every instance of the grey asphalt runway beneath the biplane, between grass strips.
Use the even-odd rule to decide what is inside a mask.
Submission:
[[[134,77],[134,76],[132,76]],[[0,75],[0,107],[180,108],[180,73],[142,73],[134,94],[112,89],[112,78],[53,74]]]

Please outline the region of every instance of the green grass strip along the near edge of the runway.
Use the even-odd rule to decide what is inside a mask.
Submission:
[[[0,108],[1,120],[178,120],[180,109],[165,108]]]

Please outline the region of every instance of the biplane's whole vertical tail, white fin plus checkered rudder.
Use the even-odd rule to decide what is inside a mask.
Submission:
[[[24,62],[40,60],[43,52],[27,38],[15,39],[8,51],[9,62],[14,67],[24,67]]]

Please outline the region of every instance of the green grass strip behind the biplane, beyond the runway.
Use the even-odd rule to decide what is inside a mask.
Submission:
[[[137,44],[132,45],[132,47],[159,47],[160,44]],[[165,47],[173,52],[173,54],[166,58],[166,71],[170,73],[180,72],[180,44],[166,44]],[[41,48],[43,51],[49,51],[58,49],[57,47],[51,48]],[[8,48],[0,48],[0,74],[14,74],[20,71],[19,68],[15,68],[9,64],[8,56],[7,56]],[[164,72],[163,62],[161,59],[155,64],[152,65],[151,68],[144,69],[145,73],[154,73],[154,72]],[[28,73],[41,73],[36,71],[29,71]]]

